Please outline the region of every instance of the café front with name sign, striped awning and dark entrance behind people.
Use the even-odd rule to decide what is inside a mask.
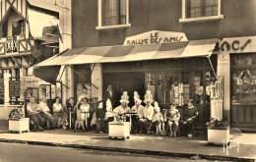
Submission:
[[[69,89],[75,98],[87,85],[91,96],[101,99],[108,84],[116,94],[127,90],[131,106],[135,90],[143,99],[150,89],[162,108],[171,102],[183,106],[192,98],[204,125],[210,118],[210,90],[216,81],[217,55],[212,55],[216,43],[217,39],[188,41],[184,33],[154,30],[128,37],[124,45],[71,49],[37,67],[71,68],[74,77],[67,78],[74,81]]]

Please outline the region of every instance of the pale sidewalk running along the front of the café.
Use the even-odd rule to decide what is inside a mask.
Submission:
[[[206,132],[200,132],[200,135],[192,138],[131,135],[130,139],[114,140],[107,139],[106,134],[94,132],[84,134],[80,131],[74,133],[72,130],[59,129],[22,135],[9,134],[7,131],[6,126],[0,127],[0,141],[178,157],[191,157],[198,154],[202,158],[214,160],[254,161],[253,159],[256,159],[256,134],[243,134],[239,138],[239,151],[237,152],[236,147],[230,148],[229,154],[226,155],[222,146],[207,146]]]

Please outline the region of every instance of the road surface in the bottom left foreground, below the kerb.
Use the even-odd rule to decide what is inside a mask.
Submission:
[[[151,156],[120,152],[95,151],[87,149],[63,148],[54,146],[39,146],[19,143],[0,143],[0,162],[64,162],[64,161],[122,161],[122,162],[187,162],[195,161],[187,158],[166,156]],[[206,161],[206,160],[199,160]]]

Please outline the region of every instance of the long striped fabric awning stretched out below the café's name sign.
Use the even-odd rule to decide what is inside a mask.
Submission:
[[[210,57],[217,39],[192,40],[164,44],[102,46],[70,49],[36,66],[116,63],[171,58]]]

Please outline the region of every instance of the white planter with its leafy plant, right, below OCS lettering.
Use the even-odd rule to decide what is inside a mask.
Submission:
[[[229,141],[230,127],[225,119],[211,118],[206,125],[208,126],[208,143],[223,144]]]

